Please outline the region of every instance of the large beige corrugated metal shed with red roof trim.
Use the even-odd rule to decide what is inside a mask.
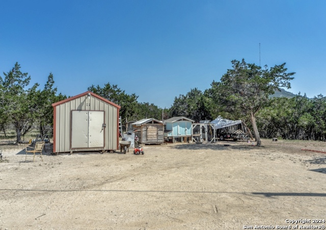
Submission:
[[[87,91],[52,107],[53,152],[118,149],[120,106]]]

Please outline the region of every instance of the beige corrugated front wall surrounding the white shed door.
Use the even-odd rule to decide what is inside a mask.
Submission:
[[[71,129],[71,111],[104,111],[105,113],[105,148],[104,150],[116,150],[118,148],[118,108],[106,103],[105,101],[91,95],[74,98],[66,103],[57,105],[55,108],[55,129],[56,129],[56,152],[70,151],[70,129]],[[95,149],[78,149],[78,151],[101,150]]]

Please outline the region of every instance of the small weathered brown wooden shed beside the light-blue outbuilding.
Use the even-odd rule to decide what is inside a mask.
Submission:
[[[164,122],[154,118],[142,119],[132,123],[135,135],[142,144],[164,143]]]

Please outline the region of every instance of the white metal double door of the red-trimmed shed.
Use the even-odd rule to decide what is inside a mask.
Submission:
[[[71,111],[71,148],[104,147],[104,111]]]

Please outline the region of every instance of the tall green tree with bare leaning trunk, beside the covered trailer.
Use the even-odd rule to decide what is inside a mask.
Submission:
[[[233,60],[232,69],[228,69],[220,82],[211,84],[212,96],[220,111],[250,117],[257,145],[261,140],[256,124],[257,112],[268,104],[268,96],[279,87],[290,88],[294,72],[287,72],[285,63],[262,69],[255,64]]]

